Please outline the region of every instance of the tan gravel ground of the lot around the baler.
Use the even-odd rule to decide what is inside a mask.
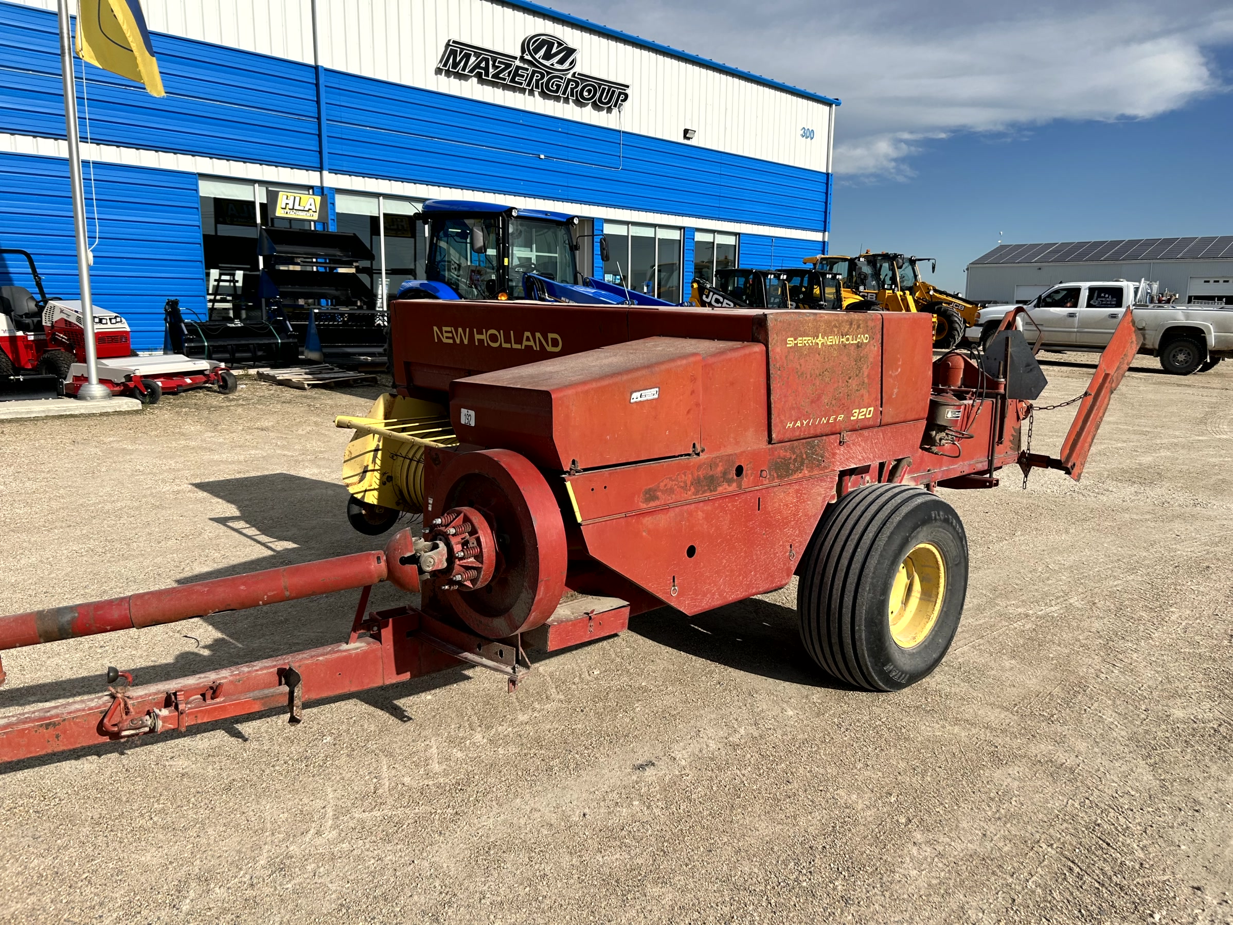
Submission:
[[[1055,359],[1042,402],[1091,375]],[[0,612],[375,548],[330,426],[375,395],[0,423]],[[459,670],[5,767],[0,920],[1233,921],[1231,460],[1233,364],[1143,360],[1081,483],[944,492],[968,604],[899,694],[814,670],[789,587],[636,618],[514,696]],[[0,712],[337,641],[353,607],[5,654]]]

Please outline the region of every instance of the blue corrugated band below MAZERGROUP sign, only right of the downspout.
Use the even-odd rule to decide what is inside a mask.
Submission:
[[[330,169],[821,232],[827,174],[326,72]]]

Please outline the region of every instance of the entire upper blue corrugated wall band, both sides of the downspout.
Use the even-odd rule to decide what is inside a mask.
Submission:
[[[821,232],[831,178],[324,70],[154,37],[168,95],[88,67],[95,142]],[[83,115],[84,99],[79,101]],[[55,15],[0,1],[0,131],[64,137]],[[322,136],[326,144],[322,146]]]

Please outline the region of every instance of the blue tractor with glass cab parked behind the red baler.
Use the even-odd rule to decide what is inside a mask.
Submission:
[[[581,305],[674,305],[578,273],[578,217],[494,202],[429,200],[416,216],[428,226],[423,280],[398,298],[533,298]],[[602,259],[608,259],[600,238]]]

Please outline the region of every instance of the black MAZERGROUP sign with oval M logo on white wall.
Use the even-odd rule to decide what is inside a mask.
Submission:
[[[629,99],[629,84],[577,72],[577,48],[557,36],[538,32],[523,39],[518,57],[451,38],[436,68],[446,74],[588,102],[604,110],[618,109]]]

